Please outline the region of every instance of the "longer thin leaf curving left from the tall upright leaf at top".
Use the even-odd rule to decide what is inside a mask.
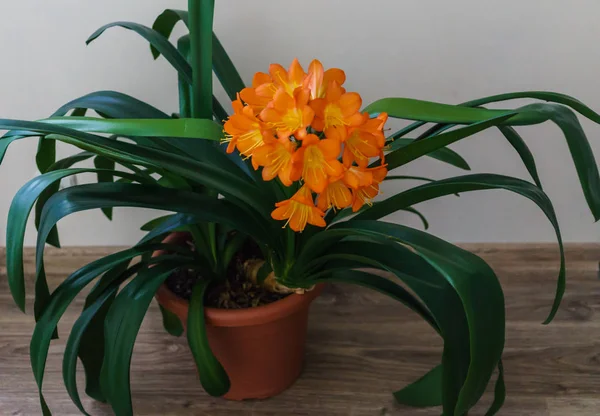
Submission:
[[[111,27],[122,27],[125,29],[132,30],[150,42],[160,53],[173,65],[173,67],[181,73],[187,82],[192,83],[192,68],[187,63],[185,58],[177,51],[177,49],[169,42],[167,38],[158,33],[157,31],[150,29],[147,26],[140,25],[133,22],[114,22],[102,26],[96,30],[86,41],[90,44],[96,38],[98,38],[106,29]]]

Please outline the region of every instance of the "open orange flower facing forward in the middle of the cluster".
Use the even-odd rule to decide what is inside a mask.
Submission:
[[[313,191],[323,192],[329,177],[341,176],[344,166],[337,160],[340,142],[333,139],[319,140],[314,134],[307,135],[302,147],[294,154],[293,163],[302,169],[302,178]]]

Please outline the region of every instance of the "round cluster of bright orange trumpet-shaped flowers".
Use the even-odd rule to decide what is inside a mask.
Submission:
[[[387,174],[387,114],[361,113],[361,97],[346,92],[345,80],[344,71],[325,71],[318,60],[308,73],[297,59],[287,71],[272,64],[268,74],[256,73],[252,87],[238,94],[225,123],[227,151],[251,158],[254,169],[262,167],[264,180],[278,177],[285,186],[300,181],[296,194],[278,202],[271,214],[294,231],[307,223],[324,227],[329,209],[356,212],[371,204]],[[377,157],[379,166],[369,168]]]

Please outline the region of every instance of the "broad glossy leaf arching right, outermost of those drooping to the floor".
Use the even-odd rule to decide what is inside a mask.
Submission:
[[[471,357],[454,413],[448,414],[466,413],[483,394],[504,347],[504,296],[492,269],[478,256],[409,227],[382,221],[351,220],[334,225],[333,230],[354,230],[408,245],[456,290],[468,321]],[[446,353],[445,349],[444,355]],[[449,360],[443,360],[443,364],[444,371],[449,371],[447,366],[453,365]],[[448,410],[445,408],[444,411]]]

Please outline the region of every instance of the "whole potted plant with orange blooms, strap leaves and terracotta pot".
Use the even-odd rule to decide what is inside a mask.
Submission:
[[[325,70],[316,60],[305,67],[294,61],[289,69],[271,65],[247,87],[212,32],[213,13],[213,1],[190,0],[189,12],[166,10],[152,28],[117,22],[88,39],[118,26],[148,40],[154,56],[163,55],[179,76],[177,114],[125,94],[99,91],[65,104],[45,120],[0,120],[0,128],[10,130],[0,140],[0,160],[11,142],[39,138],[41,175],[21,188],[8,216],[7,272],[14,300],[24,310],[24,231],[35,208],[37,324],[30,353],[44,414],[50,410],[42,381],[57,322],[93,282],[63,361],[66,388],[82,412],[75,381],[78,357],[86,372],[86,393],[108,402],[117,415],[133,414],[130,359],[155,296],[166,329],[182,335],[186,328],[209,394],[234,399],[276,394],[298,376],[310,301],[322,284],[341,282],[398,300],[444,341],[440,365],[394,393],[399,402],[441,405],[446,415],[464,415],[497,370],[488,414],[496,413],[504,401],[505,316],[494,272],[468,251],[381,218],[398,210],[420,215],[413,205],[477,190],[502,189],[530,199],[554,227],[561,253],[548,323],[564,292],[565,258],[534,157],[514,127],[549,121],[562,130],[588,206],[598,219],[600,177],[574,111],[597,123],[600,115],[572,97],[540,91],[459,105],[384,98],[363,106],[360,95],[344,89],[343,71]],[[179,21],[189,33],[174,46],[169,37]],[[212,94],[213,71],[233,102],[231,115]],[[538,102],[485,108],[519,98]],[[88,112],[96,116],[86,116]],[[389,134],[388,117],[413,123]],[[423,126],[427,128],[416,134]],[[469,170],[447,146],[490,128],[499,129],[515,148],[533,182],[468,174],[373,202],[384,181],[409,179],[399,168],[420,157]],[[56,160],[56,141],[81,152]],[[89,159],[93,168],[74,167]],[[97,174],[97,183],[59,190],[62,179],[89,172]],[[135,246],[82,267],[50,292],[44,246],[59,246],[58,221],[98,208],[110,218],[114,207],[170,214],[146,224],[148,233]],[[280,348],[273,347],[278,343]],[[265,356],[272,350],[282,355]],[[247,378],[244,371],[253,360],[269,359],[285,366],[284,373],[255,371],[254,378]],[[268,388],[245,390],[255,384]]]

